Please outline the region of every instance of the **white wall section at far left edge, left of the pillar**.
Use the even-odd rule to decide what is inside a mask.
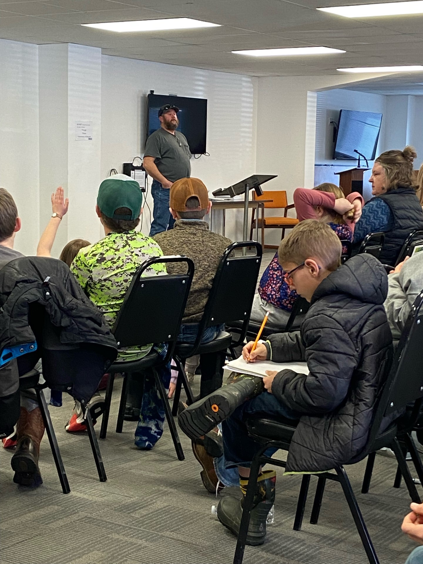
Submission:
[[[0,41],[0,186],[22,219],[15,248],[34,254],[39,237],[38,47]]]

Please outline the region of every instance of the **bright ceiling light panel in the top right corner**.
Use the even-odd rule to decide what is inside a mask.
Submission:
[[[382,17],[407,14],[423,14],[423,0],[412,2],[386,2],[383,4],[359,4],[356,6],[331,6],[317,8],[322,12],[344,17]]]

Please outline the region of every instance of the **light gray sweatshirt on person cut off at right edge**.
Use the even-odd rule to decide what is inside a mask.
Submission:
[[[388,276],[386,315],[394,340],[398,340],[406,324],[417,294],[423,290],[423,252],[404,263],[401,271]]]

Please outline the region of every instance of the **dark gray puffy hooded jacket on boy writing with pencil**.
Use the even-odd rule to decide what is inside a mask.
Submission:
[[[386,294],[384,267],[372,255],[357,255],[319,285],[299,332],[268,338],[268,358],[305,360],[310,371],[283,370],[272,384],[281,403],[303,414],[287,472],[319,472],[359,459],[392,362]]]

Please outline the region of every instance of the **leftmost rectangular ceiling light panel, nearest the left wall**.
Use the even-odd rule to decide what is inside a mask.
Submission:
[[[165,20],[107,21],[104,24],[81,24],[86,28],[105,29],[109,32],[158,32],[170,29],[216,28],[220,24],[192,20],[190,17],[171,17]]]

